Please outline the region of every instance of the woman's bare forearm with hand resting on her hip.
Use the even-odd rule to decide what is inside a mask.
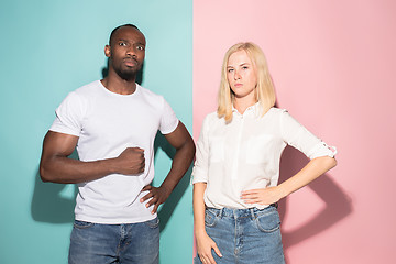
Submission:
[[[330,156],[321,156],[311,160],[296,175],[285,180],[278,186],[264,189],[250,189],[242,191],[241,198],[246,204],[271,205],[282,198],[308,185],[320,175],[337,165],[337,161]]]

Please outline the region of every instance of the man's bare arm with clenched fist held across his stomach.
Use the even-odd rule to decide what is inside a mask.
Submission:
[[[69,158],[78,136],[48,131],[44,138],[40,162],[43,182],[77,184],[105,177],[109,174],[135,175],[144,170],[144,151],[128,147],[118,157],[95,162]]]

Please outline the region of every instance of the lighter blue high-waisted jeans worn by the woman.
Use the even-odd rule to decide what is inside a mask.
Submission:
[[[207,208],[205,224],[222,257],[212,250],[218,264],[284,264],[280,220],[275,207],[263,210]],[[195,264],[201,261],[197,255]]]

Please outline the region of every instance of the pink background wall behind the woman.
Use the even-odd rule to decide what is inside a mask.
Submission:
[[[393,263],[396,2],[195,0],[194,136],[216,110],[222,56],[252,41],[277,101],[339,150],[338,166],[280,202],[287,263]],[[307,158],[286,148],[282,179]]]

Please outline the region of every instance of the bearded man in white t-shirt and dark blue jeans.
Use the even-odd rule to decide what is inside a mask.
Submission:
[[[187,172],[195,144],[164,98],[135,84],[145,44],[135,25],[116,28],[105,47],[108,76],[70,92],[45,135],[42,179],[78,184],[69,263],[158,263],[156,211]],[[153,187],[158,130],[176,154]],[[80,161],[68,158],[76,146]]]

